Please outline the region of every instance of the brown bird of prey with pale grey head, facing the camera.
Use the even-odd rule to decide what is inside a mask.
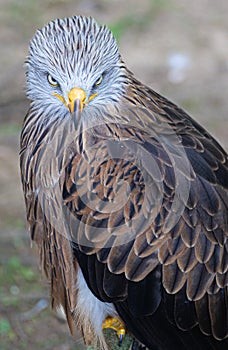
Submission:
[[[51,305],[85,344],[228,348],[228,156],[127,68],[106,25],[56,19],[29,46],[27,222]]]

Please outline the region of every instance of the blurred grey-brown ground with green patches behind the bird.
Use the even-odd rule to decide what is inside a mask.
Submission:
[[[50,309],[25,225],[18,152],[29,40],[57,17],[106,23],[137,78],[181,105],[227,150],[228,2],[0,0],[0,8],[0,349],[81,349]]]

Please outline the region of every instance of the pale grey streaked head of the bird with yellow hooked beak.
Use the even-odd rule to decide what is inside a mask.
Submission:
[[[116,41],[91,17],[57,19],[30,43],[27,95],[42,114],[118,102],[127,79]]]

